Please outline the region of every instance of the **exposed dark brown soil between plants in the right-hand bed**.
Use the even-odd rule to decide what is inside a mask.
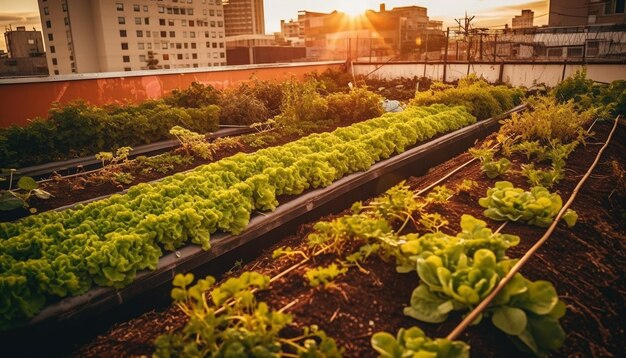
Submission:
[[[588,140],[588,145],[577,149],[568,160],[568,175],[556,187],[564,201],[595,159],[600,148],[595,142],[603,142],[610,127],[608,123],[598,124],[595,128],[597,134]],[[621,123],[593,176],[574,201],[572,208],[579,214],[576,226],[568,229],[559,225],[550,240],[522,269],[522,273],[531,280],[552,282],[567,304],[568,312],[561,320],[567,340],[554,356],[607,357],[623,354],[626,185],[623,177],[619,179],[619,170],[615,168],[626,165],[625,145],[626,124]],[[462,154],[423,177],[410,178],[408,184],[416,190],[423,188],[468,159],[469,155]],[[519,160],[514,162],[514,169],[519,169]],[[445,185],[455,188],[463,179],[476,180],[479,188],[429,208],[429,211],[439,212],[449,220],[450,225],[445,231],[456,232],[460,216],[464,213],[484,219],[477,201],[495,180],[487,179],[481,173],[479,164],[473,163],[448,179]],[[524,178],[515,173],[505,175],[503,179],[528,188]],[[325,220],[332,218],[329,216]],[[491,220],[487,222],[492,228],[501,225]],[[298,232],[277,246],[295,248],[305,245],[304,238],[311,228],[312,224],[301,226]],[[522,238],[520,245],[509,251],[510,256],[520,257],[543,235],[545,229],[511,223],[504,232]],[[300,260],[272,259],[275,248],[265,250],[242,270],[255,270],[273,276]],[[336,259],[333,255],[319,255],[275,281],[269,290],[258,293],[257,297],[275,309],[295,301],[288,310],[294,315],[295,323],[319,325],[346,349],[345,356],[348,357],[375,356],[369,343],[374,332],[395,334],[401,327],[417,325],[431,337],[445,337],[461,319],[454,316],[444,324],[432,325],[404,316],[402,308],[408,304],[411,291],[418,284],[417,275],[398,274],[393,262],[384,262],[376,257],[368,259],[364,265],[368,273],[353,268],[336,279],[332,288],[308,287],[303,277],[305,269],[327,265]],[[148,313],[112,327],[106,335],[80,348],[75,354],[93,357],[150,355],[152,341],[159,334],[179,329],[184,324],[184,316],[174,307],[164,312]],[[471,345],[471,353],[476,357],[523,356],[489,322],[470,327],[460,339]]]

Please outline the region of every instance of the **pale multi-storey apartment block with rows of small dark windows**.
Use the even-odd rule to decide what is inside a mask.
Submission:
[[[226,65],[221,0],[38,0],[50,74]]]

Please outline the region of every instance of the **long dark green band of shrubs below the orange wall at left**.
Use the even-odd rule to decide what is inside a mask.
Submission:
[[[96,107],[84,101],[54,106],[48,120],[0,129],[0,168],[19,168],[169,139],[179,125],[218,129],[219,107],[176,108],[161,101]]]

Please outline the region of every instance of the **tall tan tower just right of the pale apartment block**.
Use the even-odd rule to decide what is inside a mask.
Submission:
[[[224,0],[226,36],[265,34],[263,0]]]

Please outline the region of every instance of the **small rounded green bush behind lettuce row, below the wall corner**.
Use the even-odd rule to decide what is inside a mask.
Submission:
[[[332,93],[326,97],[328,119],[359,122],[383,114],[383,98],[365,88],[354,88],[349,93]]]

